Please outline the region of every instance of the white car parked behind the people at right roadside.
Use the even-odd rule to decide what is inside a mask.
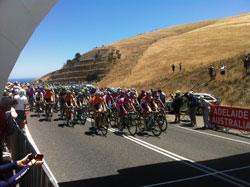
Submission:
[[[213,105],[221,105],[221,100],[219,98],[217,98],[216,96],[209,94],[209,93],[194,93],[194,96],[196,96],[198,98],[198,100],[200,100],[201,96],[204,96],[204,99],[209,101],[210,103],[212,103]],[[184,95],[182,95],[181,97],[184,97]],[[172,103],[173,100],[168,100],[166,101],[166,107],[167,110],[169,111],[169,113],[173,113],[174,109],[172,107]],[[197,109],[197,114],[201,114],[201,108],[198,107]]]

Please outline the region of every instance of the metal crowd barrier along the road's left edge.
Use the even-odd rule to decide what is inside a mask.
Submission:
[[[20,160],[28,153],[37,154],[37,151],[32,146],[31,141],[20,129],[16,130],[13,135],[8,137],[8,147],[13,160]],[[47,164],[43,164],[42,167],[31,168],[28,174],[20,182],[20,187],[59,186],[47,167]]]

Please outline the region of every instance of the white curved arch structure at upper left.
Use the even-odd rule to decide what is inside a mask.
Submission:
[[[0,96],[18,56],[58,0],[0,0]]]

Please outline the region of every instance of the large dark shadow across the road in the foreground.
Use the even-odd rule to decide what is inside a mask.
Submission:
[[[214,160],[206,160],[197,162],[207,167],[214,168],[218,171],[228,170],[232,168],[239,168],[249,166],[238,171],[227,172],[226,174],[240,178],[241,180],[250,182],[250,153],[239,154],[229,157],[223,157]],[[96,168],[97,170],[99,168]],[[90,179],[83,179],[77,181],[69,181],[59,183],[60,187],[95,187],[95,186],[145,186],[150,184],[157,184],[162,182],[169,182],[188,177],[194,177],[207,174],[200,170],[187,166],[179,161],[163,162],[157,164],[144,165],[133,168],[125,168],[117,170],[116,175],[105,177],[97,177]],[[214,176],[203,176],[193,180],[179,181],[168,184],[167,186],[233,186],[232,184],[218,179]],[[166,185],[161,185],[166,186]]]

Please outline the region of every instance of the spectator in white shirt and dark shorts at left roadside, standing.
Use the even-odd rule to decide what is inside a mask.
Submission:
[[[16,112],[18,114],[16,120],[17,124],[21,129],[24,129],[25,124],[27,123],[27,117],[25,113],[26,106],[28,104],[27,97],[25,96],[25,91],[22,89],[20,90],[19,95],[16,95],[14,99],[17,100],[17,105],[16,105]]]

